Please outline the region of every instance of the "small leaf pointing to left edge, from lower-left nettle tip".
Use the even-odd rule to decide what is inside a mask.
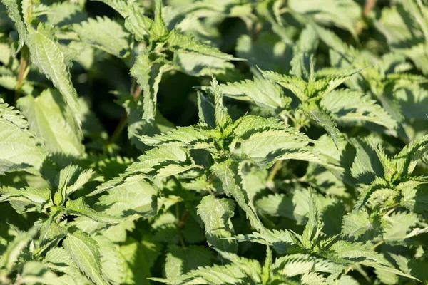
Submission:
[[[46,212],[51,207],[51,190],[34,189],[33,187],[24,187],[16,189],[14,187],[0,188],[0,202],[8,201],[12,207],[22,214],[24,212]]]

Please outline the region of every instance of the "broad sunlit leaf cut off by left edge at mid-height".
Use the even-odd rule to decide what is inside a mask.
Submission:
[[[19,112],[0,99],[0,173],[39,170],[47,155]]]

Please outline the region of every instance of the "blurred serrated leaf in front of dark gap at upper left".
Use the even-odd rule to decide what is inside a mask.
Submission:
[[[73,26],[81,41],[100,48],[113,56],[125,57],[129,52],[130,35],[120,24],[107,17],[88,19]]]

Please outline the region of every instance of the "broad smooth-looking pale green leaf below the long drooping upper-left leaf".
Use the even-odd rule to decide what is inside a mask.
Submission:
[[[83,136],[61,93],[44,90],[38,97],[26,95],[18,100],[22,113],[29,118],[29,129],[44,142],[49,152],[81,155]]]

